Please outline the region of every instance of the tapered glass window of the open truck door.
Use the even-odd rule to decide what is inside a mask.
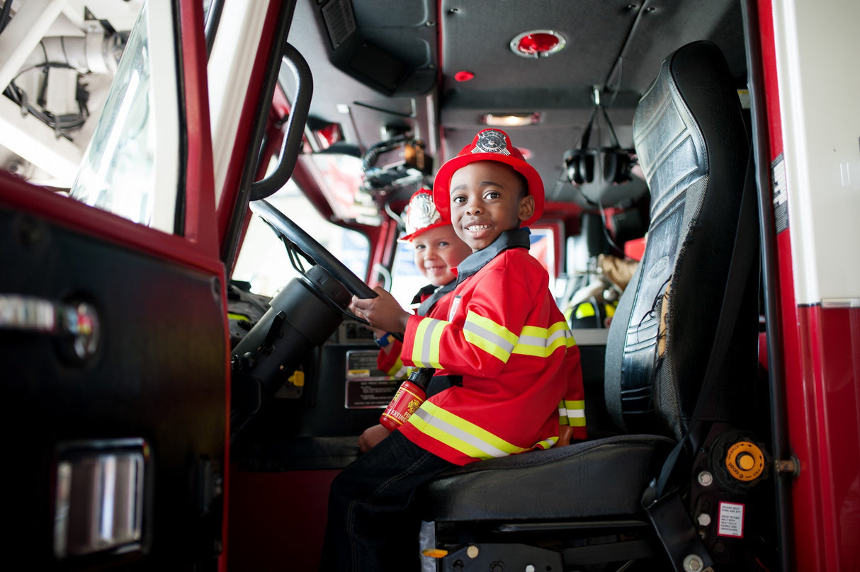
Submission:
[[[144,4],[71,196],[181,234],[184,149],[174,37],[172,3]]]

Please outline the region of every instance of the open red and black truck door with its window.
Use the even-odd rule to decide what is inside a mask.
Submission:
[[[75,185],[0,173],[5,545],[214,569],[229,351],[200,2],[148,3]]]

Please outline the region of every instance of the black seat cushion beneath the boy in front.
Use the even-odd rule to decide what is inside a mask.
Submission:
[[[643,514],[648,480],[674,445],[656,435],[617,435],[470,463],[427,484],[437,522],[579,520]]]

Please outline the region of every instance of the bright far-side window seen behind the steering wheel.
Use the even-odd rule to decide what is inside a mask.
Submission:
[[[364,234],[325,220],[292,180],[266,200],[304,228],[356,276],[365,277],[370,243]],[[273,296],[296,276],[298,271],[292,267],[278,234],[259,216],[252,216],[233,279],[250,283],[255,294]]]

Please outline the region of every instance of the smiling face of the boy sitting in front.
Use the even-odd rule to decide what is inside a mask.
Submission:
[[[521,181],[513,167],[498,161],[475,161],[451,175],[451,224],[472,252],[531,217],[534,197]]]

